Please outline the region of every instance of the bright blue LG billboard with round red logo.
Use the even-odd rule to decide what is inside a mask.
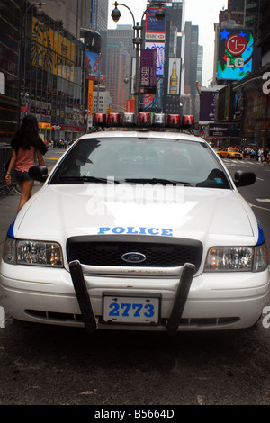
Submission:
[[[252,72],[253,41],[245,29],[220,32],[217,80],[238,80]]]

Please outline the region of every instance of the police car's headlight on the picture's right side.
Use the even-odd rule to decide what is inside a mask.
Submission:
[[[257,247],[212,247],[205,272],[261,272],[266,270],[266,244]]]

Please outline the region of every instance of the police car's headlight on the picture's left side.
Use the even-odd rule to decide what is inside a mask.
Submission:
[[[48,241],[7,238],[3,259],[10,265],[63,266],[61,247]]]

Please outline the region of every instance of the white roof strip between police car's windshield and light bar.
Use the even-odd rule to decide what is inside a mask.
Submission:
[[[185,132],[168,132],[166,130],[101,130],[83,135],[79,139],[89,138],[149,138],[149,139],[182,139],[187,141],[203,142],[201,137]],[[207,144],[208,145],[208,144]]]

